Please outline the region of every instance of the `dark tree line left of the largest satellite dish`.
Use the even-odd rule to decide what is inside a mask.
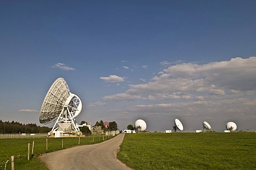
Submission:
[[[51,128],[46,126],[37,126],[34,123],[22,124],[19,122],[3,122],[0,120],[0,133],[47,133]]]

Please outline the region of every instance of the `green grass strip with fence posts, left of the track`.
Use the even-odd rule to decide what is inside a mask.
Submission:
[[[111,137],[110,137],[111,138]],[[104,137],[104,141],[110,139],[109,137]],[[62,148],[62,139],[63,139],[63,148]],[[14,168],[18,169],[47,169],[45,164],[40,161],[38,158],[39,155],[42,155],[47,152],[52,152],[56,150],[61,150],[65,148],[70,148],[73,146],[79,145],[91,145],[94,143],[99,143],[103,141],[103,137],[81,137],[80,141],[78,137],[75,138],[48,138],[48,145],[46,150],[46,139],[0,139],[0,170],[11,169],[11,156],[14,156]],[[31,154],[32,143],[34,141],[34,154]],[[30,160],[28,160],[28,143],[30,143]]]

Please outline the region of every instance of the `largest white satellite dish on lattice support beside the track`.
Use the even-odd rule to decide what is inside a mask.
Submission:
[[[81,99],[69,91],[68,84],[63,78],[55,80],[48,90],[39,116],[39,122],[47,124],[56,121],[52,132],[79,134],[76,123],[77,117],[82,111]]]

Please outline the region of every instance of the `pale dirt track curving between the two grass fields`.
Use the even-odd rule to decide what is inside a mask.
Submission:
[[[95,145],[84,145],[44,154],[49,169],[131,169],[116,158],[124,134]]]

